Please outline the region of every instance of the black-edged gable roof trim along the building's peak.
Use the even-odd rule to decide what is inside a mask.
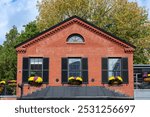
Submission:
[[[80,18],[80,17],[78,17],[78,16],[72,16],[72,17],[70,17],[70,18],[68,18],[68,19],[66,19],[66,20],[64,20],[64,21],[62,21],[62,22],[60,22],[60,23],[58,23],[58,24],[56,24],[56,25],[54,25],[54,26],[48,28],[47,30],[45,30],[45,31],[43,31],[43,32],[41,32],[41,33],[39,33],[39,34],[37,34],[36,36],[34,36],[34,37],[32,37],[32,38],[29,38],[29,39],[27,39],[26,41],[24,41],[24,42],[22,42],[22,43],[16,45],[15,48],[18,48],[18,47],[20,47],[20,46],[22,46],[22,45],[24,45],[24,44],[26,44],[26,43],[28,43],[28,42],[34,40],[35,38],[37,38],[37,37],[39,37],[39,36],[41,36],[41,35],[43,35],[43,34],[49,32],[49,31],[51,31],[51,30],[53,30],[53,29],[55,29],[55,28],[57,28],[57,27],[59,27],[59,26],[61,26],[61,25],[63,25],[63,24],[65,24],[65,23],[67,23],[67,22],[69,22],[69,21],[71,21],[71,20],[74,20],[74,19],[77,19],[77,20],[79,20],[79,21],[81,21],[81,22],[83,22],[83,23],[85,23],[85,24],[87,24],[87,25],[89,25],[89,26],[95,28],[96,30],[101,31],[102,33],[105,33],[105,34],[107,34],[107,35],[110,36],[110,37],[113,37],[114,39],[116,39],[116,40],[118,40],[118,41],[120,41],[120,42],[122,42],[122,43],[128,45],[129,47],[131,47],[131,48],[133,48],[133,49],[136,48],[134,45],[132,45],[132,44],[126,42],[125,40],[123,40],[123,39],[121,39],[121,38],[115,36],[114,34],[112,34],[112,33],[110,33],[110,32],[107,32],[106,30],[104,30],[104,29],[102,29],[102,28],[99,28],[99,27],[95,26],[94,24],[92,24],[92,23],[90,23],[90,22],[88,22],[88,21],[86,21],[86,20],[84,20],[84,19],[82,19],[82,18]],[[75,22],[77,22],[77,21],[75,21]],[[59,30],[59,29],[58,29],[58,30]]]

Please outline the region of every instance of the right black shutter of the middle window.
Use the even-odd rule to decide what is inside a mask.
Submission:
[[[82,58],[82,78],[83,83],[88,83],[88,59]]]

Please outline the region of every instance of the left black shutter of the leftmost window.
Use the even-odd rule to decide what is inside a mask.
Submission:
[[[29,77],[29,58],[23,58],[22,82],[27,83]]]

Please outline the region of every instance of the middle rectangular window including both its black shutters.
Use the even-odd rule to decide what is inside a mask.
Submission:
[[[87,58],[62,58],[62,83],[68,83],[68,77],[80,76],[83,83],[88,83]]]

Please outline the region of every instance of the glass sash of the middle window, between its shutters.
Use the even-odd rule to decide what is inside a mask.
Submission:
[[[81,77],[81,59],[70,58],[69,61],[69,70],[68,70],[68,77],[80,76]]]

